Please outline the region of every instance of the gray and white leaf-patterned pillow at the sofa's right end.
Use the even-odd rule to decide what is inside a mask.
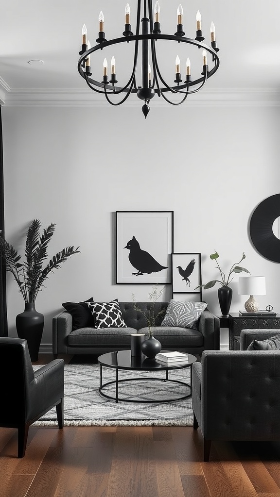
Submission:
[[[205,302],[170,300],[161,326],[178,326],[197,330],[197,322],[206,307]]]

